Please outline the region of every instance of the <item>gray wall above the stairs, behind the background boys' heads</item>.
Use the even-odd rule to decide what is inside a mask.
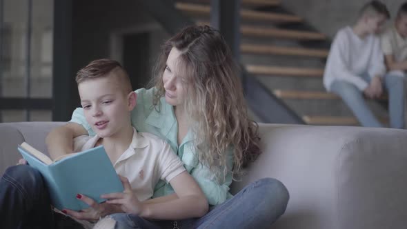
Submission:
[[[381,0],[386,3],[392,18],[397,9],[404,3],[402,0]],[[284,0],[283,6],[301,17],[304,17],[320,32],[334,37],[337,30],[352,24],[357,12],[368,0]]]

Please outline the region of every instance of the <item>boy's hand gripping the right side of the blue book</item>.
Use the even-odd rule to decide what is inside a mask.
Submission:
[[[121,183],[123,183],[124,191],[117,193],[110,193],[101,195],[101,198],[108,199],[107,203],[118,204],[124,212],[140,215],[143,211],[143,203],[137,199],[136,195],[132,192],[132,188],[126,177],[119,175]]]

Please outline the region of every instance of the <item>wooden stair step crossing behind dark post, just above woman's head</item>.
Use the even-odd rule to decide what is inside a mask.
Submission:
[[[208,15],[210,13],[210,6],[201,5],[195,3],[175,3],[175,8],[178,10],[183,10],[190,14],[203,14]],[[242,19],[249,20],[266,20],[266,21],[279,21],[279,22],[301,22],[301,17],[290,15],[290,14],[281,14],[273,12],[258,12],[256,10],[246,10],[242,9],[240,11]]]

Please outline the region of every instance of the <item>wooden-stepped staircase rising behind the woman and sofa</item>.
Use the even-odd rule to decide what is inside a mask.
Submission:
[[[321,47],[304,47],[303,41],[314,43],[326,42],[325,34],[312,30],[293,29],[305,23],[304,19],[296,15],[282,13],[279,10],[279,0],[242,0],[241,7],[241,54],[244,58],[246,70],[262,79],[263,82],[273,79],[268,88],[280,99],[285,101],[292,110],[295,110],[302,119],[312,125],[339,125],[357,126],[359,123],[353,117],[346,105],[335,94],[328,93],[322,86],[324,74],[324,61],[328,57],[329,50]],[[188,0],[179,1],[175,7],[183,13],[195,19],[197,24],[208,24],[210,6],[209,1],[197,1],[193,3]],[[257,10],[257,8],[268,8],[271,10]],[[276,9],[276,10],[273,10]],[[281,26],[283,25],[283,26]],[[288,28],[287,28],[288,27]],[[283,43],[283,44],[281,44]],[[289,45],[286,45],[289,43]],[[246,58],[247,56],[247,58]],[[277,61],[277,58],[288,61]],[[260,60],[262,61],[253,61]],[[270,59],[270,61],[268,61]],[[302,59],[312,59],[315,66],[297,66],[296,63]],[[261,63],[266,62],[266,64]],[[278,62],[284,63],[279,64]],[[289,86],[279,88],[279,81],[289,79],[293,83]],[[309,81],[316,82],[312,89],[306,87]],[[304,87],[302,87],[304,86]],[[301,88],[301,89],[299,89]],[[386,100],[386,97],[381,98]],[[307,108],[308,103],[321,103],[321,112],[318,110],[299,109],[290,106],[290,101],[302,103]],[[344,112],[338,114],[325,114],[324,108],[329,103],[340,106]],[[318,107],[318,106],[317,106]],[[383,119],[385,121],[385,119]]]

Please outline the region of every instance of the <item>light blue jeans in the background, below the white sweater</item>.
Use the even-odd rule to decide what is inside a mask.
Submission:
[[[363,74],[362,79],[370,83],[368,74]],[[389,73],[384,76],[384,89],[388,92],[388,110],[391,128],[404,128],[404,74]],[[361,92],[355,85],[347,81],[336,80],[330,90],[348,105],[362,126],[383,127],[370,110]]]

